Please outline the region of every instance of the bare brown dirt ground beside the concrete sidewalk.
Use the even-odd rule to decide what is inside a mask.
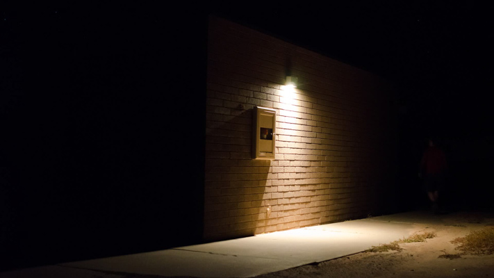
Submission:
[[[448,213],[438,217],[443,218],[443,224],[421,227],[424,232],[435,231],[435,238],[423,243],[401,243],[402,251],[362,252],[256,278],[494,277],[494,254],[461,254],[455,250],[458,245],[450,242],[471,231],[494,226],[493,213]],[[459,258],[441,258],[441,255],[459,255]]]

